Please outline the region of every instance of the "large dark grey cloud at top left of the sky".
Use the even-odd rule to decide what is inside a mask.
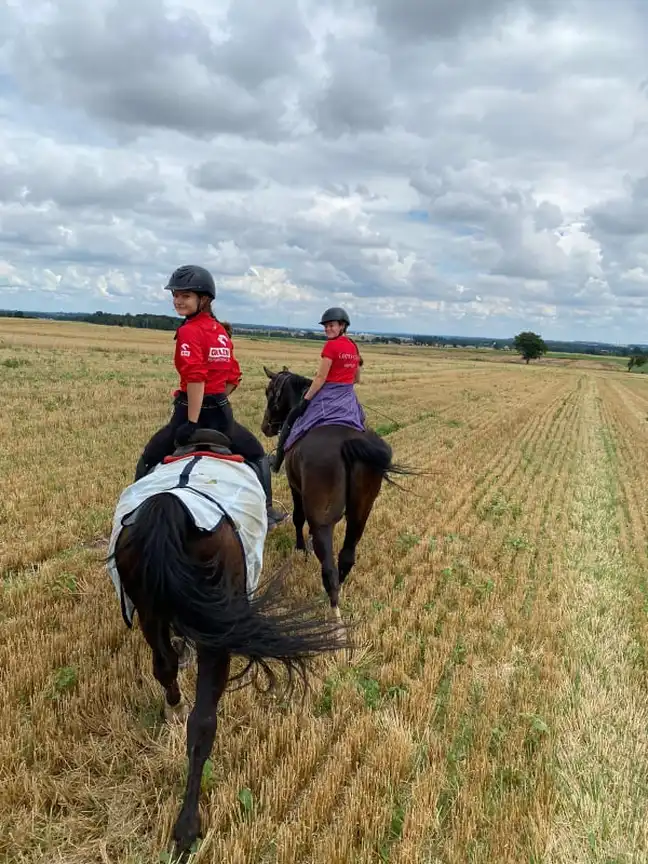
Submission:
[[[133,134],[147,127],[198,137],[283,134],[282,94],[252,95],[221,71],[219,46],[200,18],[172,16],[156,0],[55,5],[17,40],[13,62],[32,98],[58,98]]]

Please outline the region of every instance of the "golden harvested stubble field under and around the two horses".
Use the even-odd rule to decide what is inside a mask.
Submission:
[[[182,728],[104,539],[175,385],[172,334],[0,322],[0,861],[164,862]],[[262,441],[266,363],[236,340]],[[303,705],[226,693],[194,860],[648,860],[648,379],[613,363],[366,348],[358,388],[395,458],[342,593],[361,648]],[[285,475],[275,497],[286,506]],[[338,531],[338,538],[340,531]],[[292,526],[265,571],[322,598]],[[339,542],[339,541],[338,541]],[[194,672],[181,673],[192,695]]]

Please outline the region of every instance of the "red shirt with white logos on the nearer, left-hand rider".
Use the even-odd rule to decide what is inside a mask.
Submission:
[[[227,384],[239,384],[242,378],[232,340],[207,312],[178,327],[174,363],[183,393],[187,384],[200,381],[205,382],[205,395],[224,393]]]

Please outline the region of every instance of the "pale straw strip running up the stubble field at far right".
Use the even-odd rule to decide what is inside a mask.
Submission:
[[[632,567],[620,544],[610,388],[588,381],[562,555],[560,796],[543,858],[552,864],[648,859],[648,697],[632,628]]]

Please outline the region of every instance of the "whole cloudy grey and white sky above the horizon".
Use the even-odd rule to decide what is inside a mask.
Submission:
[[[644,0],[0,4],[0,308],[648,342]]]

